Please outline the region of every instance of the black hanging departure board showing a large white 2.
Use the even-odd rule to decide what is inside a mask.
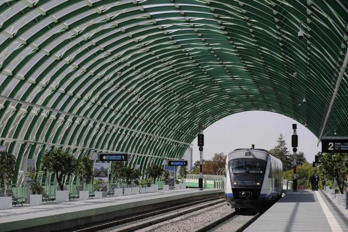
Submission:
[[[323,137],[322,138],[323,153],[348,153],[347,137]]]

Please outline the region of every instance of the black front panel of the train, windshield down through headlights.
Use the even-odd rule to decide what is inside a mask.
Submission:
[[[255,158],[236,158],[229,161],[231,185],[261,186],[267,162]]]

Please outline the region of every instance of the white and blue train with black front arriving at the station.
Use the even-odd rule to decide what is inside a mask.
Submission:
[[[226,158],[225,196],[231,208],[261,209],[282,194],[283,164],[263,149],[237,149]]]

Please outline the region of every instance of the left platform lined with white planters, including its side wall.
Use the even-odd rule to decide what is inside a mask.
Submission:
[[[224,189],[180,189],[110,196],[0,210],[0,232],[50,232],[159,209],[173,204],[224,196]]]

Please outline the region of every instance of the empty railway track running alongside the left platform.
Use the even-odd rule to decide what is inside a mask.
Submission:
[[[225,202],[223,197],[214,197],[201,201],[191,202],[188,204],[175,206],[172,208],[155,211],[152,213],[142,214],[127,219],[109,222],[94,227],[85,228],[74,232],[130,232],[139,230],[157,223],[198,211],[219,203]]]

